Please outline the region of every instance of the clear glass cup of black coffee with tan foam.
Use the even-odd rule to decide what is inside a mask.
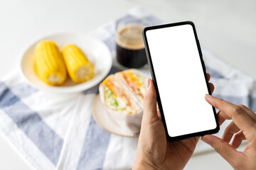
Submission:
[[[123,19],[117,22],[117,61],[124,67],[138,68],[147,64],[142,30],[149,21]]]

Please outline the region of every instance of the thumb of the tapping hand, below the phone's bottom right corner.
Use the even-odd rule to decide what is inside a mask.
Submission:
[[[205,135],[201,137],[201,140],[213,147],[213,149],[215,149],[215,151],[218,152],[230,164],[237,164],[240,157],[242,157],[240,152],[235,150],[231,145],[228,145],[227,142],[224,142],[219,137]]]

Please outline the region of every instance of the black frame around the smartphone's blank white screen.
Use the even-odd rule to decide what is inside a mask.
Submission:
[[[177,140],[184,140],[184,139],[191,138],[191,137],[209,135],[209,134],[216,133],[220,130],[220,125],[218,123],[218,118],[217,118],[217,114],[216,114],[216,111],[215,111],[214,107],[213,107],[213,114],[214,114],[215,122],[216,122],[216,128],[215,129],[201,131],[201,132],[194,132],[194,133],[190,133],[190,134],[186,134],[186,135],[180,135],[180,136],[176,136],[176,137],[171,137],[171,136],[169,136],[169,133],[168,133],[168,130],[167,130],[167,127],[166,127],[166,121],[165,121],[165,118],[164,118],[164,111],[163,111],[163,108],[161,106],[161,99],[160,99],[160,95],[159,95],[159,89],[158,89],[157,82],[156,82],[156,76],[154,74],[154,67],[153,67],[153,63],[152,63],[152,60],[151,60],[148,41],[147,41],[147,38],[146,38],[146,31],[147,30],[155,30],[155,29],[161,29],[161,28],[174,27],[174,26],[182,26],[182,25],[187,25],[187,24],[191,25],[192,28],[193,28],[193,33],[195,35],[196,45],[198,47],[198,53],[199,53],[199,56],[200,56],[203,73],[204,73],[204,76],[205,76],[205,79],[206,79],[206,86],[208,88],[208,94],[211,95],[210,86],[208,84],[208,78],[207,78],[207,74],[206,74],[206,66],[203,62],[203,55],[202,55],[202,52],[201,52],[201,47],[200,47],[200,44],[199,44],[198,36],[196,34],[196,27],[195,27],[195,25],[192,21],[183,21],[183,22],[179,22],[179,23],[169,23],[169,24],[164,24],[164,25],[159,25],[159,26],[150,26],[150,27],[144,28],[144,30],[142,32],[142,35],[143,35],[143,38],[144,38],[145,50],[146,50],[146,57],[147,57],[149,67],[150,67],[151,77],[152,77],[152,80],[154,82],[154,86],[155,86],[155,89],[156,89],[156,98],[157,98],[157,102],[158,102],[158,105],[159,105],[161,121],[164,124],[164,129],[165,129],[165,132],[166,132],[166,138],[170,142],[177,141]]]

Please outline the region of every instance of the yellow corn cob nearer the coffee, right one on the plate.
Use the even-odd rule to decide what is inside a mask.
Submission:
[[[63,57],[73,81],[80,83],[92,79],[94,67],[80,48],[75,45],[65,45]]]

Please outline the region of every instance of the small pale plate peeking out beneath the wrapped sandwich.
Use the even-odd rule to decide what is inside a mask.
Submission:
[[[110,113],[105,109],[102,101],[100,101],[99,94],[95,97],[92,104],[92,116],[95,122],[107,132],[123,137],[139,137],[138,133],[135,134],[132,130],[124,130],[119,127],[119,125],[110,116]]]

